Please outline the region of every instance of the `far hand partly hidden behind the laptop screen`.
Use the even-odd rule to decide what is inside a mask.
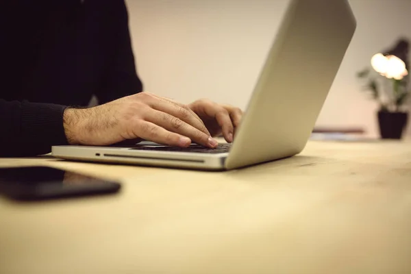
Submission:
[[[219,105],[208,99],[190,103],[188,107],[197,114],[206,125],[211,136],[223,133],[227,142],[232,142],[236,128],[240,125],[242,111],[231,105]]]

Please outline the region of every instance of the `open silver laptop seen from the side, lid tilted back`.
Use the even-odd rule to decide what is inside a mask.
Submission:
[[[356,29],[347,0],[291,0],[232,144],[55,146],[69,160],[230,170],[288,158],[306,146]],[[229,34],[227,34],[229,35]]]

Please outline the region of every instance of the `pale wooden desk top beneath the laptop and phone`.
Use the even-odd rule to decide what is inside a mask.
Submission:
[[[0,160],[38,163],[123,191],[0,199],[0,273],[411,273],[411,143],[311,141],[225,173]]]

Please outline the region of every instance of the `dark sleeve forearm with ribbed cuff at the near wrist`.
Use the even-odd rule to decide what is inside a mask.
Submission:
[[[0,99],[0,157],[49,153],[52,145],[67,145],[64,105]]]

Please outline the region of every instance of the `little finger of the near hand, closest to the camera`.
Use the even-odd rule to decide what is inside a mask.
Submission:
[[[145,140],[157,142],[158,144],[170,145],[173,147],[188,147],[191,143],[190,138],[175,132],[169,132],[167,129],[147,121],[138,120],[133,127],[136,136],[140,136],[140,138]]]

